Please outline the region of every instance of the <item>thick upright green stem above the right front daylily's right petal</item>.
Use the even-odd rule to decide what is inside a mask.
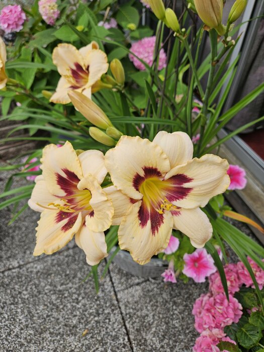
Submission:
[[[208,102],[211,94],[211,88],[214,80],[215,67],[216,67],[215,59],[217,57],[217,32],[214,29],[211,29],[209,31],[209,38],[211,43],[211,66],[210,66],[210,71],[209,71],[209,76],[207,81],[207,87],[205,91],[204,105],[202,109],[200,139],[199,139],[198,150],[197,150],[198,156],[200,156],[201,146],[203,142],[203,136],[204,136],[205,126],[207,122]]]

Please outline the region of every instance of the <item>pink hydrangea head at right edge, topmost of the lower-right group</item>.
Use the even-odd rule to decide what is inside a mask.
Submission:
[[[264,287],[264,271],[259,268],[258,265],[254,262],[254,260],[252,260],[250,257],[247,257],[247,260],[249,261],[250,267],[252,268],[252,271],[255,275],[259,289],[262,290],[262,288]],[[262,259],[262,261],[264,261],[264,259]],[[244,284],[246,287],[254,288],[251,276],[241,261],[237,263],[237,274],[241,285]]]

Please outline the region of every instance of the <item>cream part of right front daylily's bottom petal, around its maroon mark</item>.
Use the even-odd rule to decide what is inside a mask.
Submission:
[[[147,263],[151,257],[163,251],[169,242],[173,219],[170,212],[163,214],[163,223],[155,235],[151,231],[151,221],[141,227],[138,212],[141,201],[133,204],[118,230],[118,240],[121,249],[130,251],[133,259],[139,264]]]

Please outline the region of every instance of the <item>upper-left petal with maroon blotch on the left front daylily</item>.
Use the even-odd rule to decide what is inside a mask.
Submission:
[[[66,193],[65,182],[76,185],[82,179],[80,162],[71,143],[60,148],[49,144],[43,149],[41,169],[49,192],[58,197]]]

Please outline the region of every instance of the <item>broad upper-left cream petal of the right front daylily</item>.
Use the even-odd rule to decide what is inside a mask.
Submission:
[[[133,181],[138,174],[143,177],[145,169],[164,174],[170,169],[169,160],[160,146],[140,137],[122,136],[105,156],[113,184],[133,199],[141,199]]]

